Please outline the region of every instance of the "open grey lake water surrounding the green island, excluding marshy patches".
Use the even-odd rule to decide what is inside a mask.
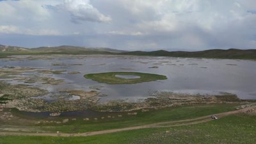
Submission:
[[[27,58],[29,57],[29,58]],[[143,100],[150,93],[163,90],[177,93],[218,94],[235,93],[241,99],[256,99],[256,61],[213,60],[199,58],[170,58],[151,56],[15,56],[0,59],[0,68],[36,67],[52,70],[67,70],[52,76],[65,79],[64,84],[39,84],[54,95],[61,90],[92,90],[100,86],[102,102],[113,99]],[[52,65],[61,63],[61,65]],[[168,79],[138,84],[104,84],[85,79],[84,74],[100,72],[146,72],[161,74]],[[68,72],[81,72],[68,74]],[[29,73],[33,74],[33,73]],[[45,96],[45,99],[49,96]]]

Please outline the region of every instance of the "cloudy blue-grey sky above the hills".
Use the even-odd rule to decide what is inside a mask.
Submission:
[[[256,1],[0,0],[0,44],[256,49]]]

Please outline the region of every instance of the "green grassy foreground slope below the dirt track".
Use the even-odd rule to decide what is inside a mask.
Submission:
[[[251,144],[256,141],[256,115],[231,115],[207,123],[140,129],[115,132],[88,137],[51,137],[51,136],[1,136],[0,144],[153,144],[153,143],[234,143]],[[169,131],[169,132],[166,132]]]

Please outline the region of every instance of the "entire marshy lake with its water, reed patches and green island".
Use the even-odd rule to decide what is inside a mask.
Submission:
[[[0,103],[4,108],[59,115],[241,102],[256,99],[255,68],[250,60],[11,56],[0,59]]]

